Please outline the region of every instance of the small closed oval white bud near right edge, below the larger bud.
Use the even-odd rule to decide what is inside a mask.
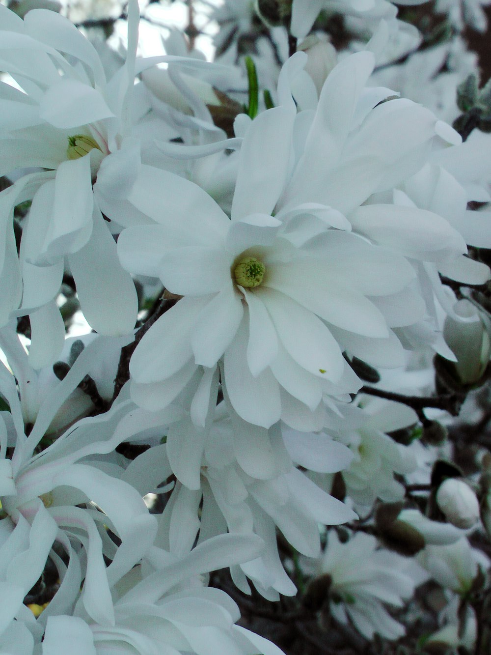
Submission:
[[[460,529],[473,527],[479,519],[477,496],[462,479],[449,477],[443,481],[437,491],[436,500],[447,521]]]

